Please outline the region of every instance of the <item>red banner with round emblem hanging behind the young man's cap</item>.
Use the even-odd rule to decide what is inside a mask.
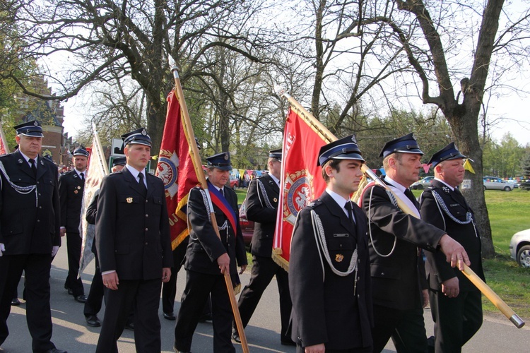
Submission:
[[[273,259],[288,270],[290,239],[298,212],[326,189],[322,168],[317,166],[326,142],[290,109],[283,133],[281,186],[278,201]]]

